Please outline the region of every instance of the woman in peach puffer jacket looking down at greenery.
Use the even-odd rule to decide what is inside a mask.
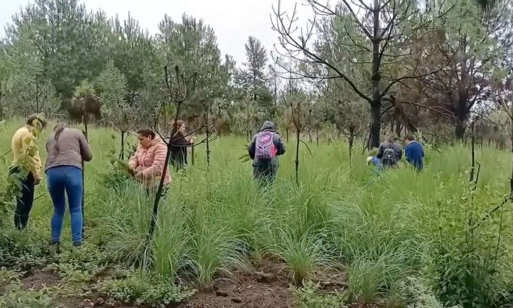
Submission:
[[[155,136],[155,132],[148,128],[137,131],[139,147],[128,162],[134,177],[144,183],[146,188],[155,188],[159,185],[162,170],[166,165],[167,145]],[[164,185],[171,183],[169,169],[166,171]]]

